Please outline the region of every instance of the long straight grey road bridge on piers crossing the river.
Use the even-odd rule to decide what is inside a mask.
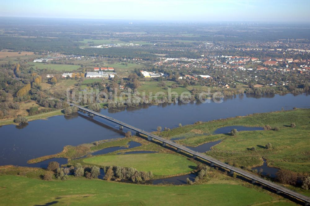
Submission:
[[[198,152],[196,152],[196,151],[193,151],[193,150],[191,150],[191,149],[189,149],[189,148],[187,148],[187,147],[185,147],[185,146],[182,146],[182,145],[180,145],[180,144],[177,144],[177,143],[175,143],[175,142],[173,142],[173,141],[164,139],[164,138],[162,138],[162,137],[158,137],[158,136],[156,136],[156,135],[154,135],[154,134],[152,134],[152,133],[150,133],[150,132],[146,132],[146,131],[141,130],[141,129],[139,129],[139,128],[135,128],[134,126],[131,126],[131,125],[129,125],[129,124],[126,124],[126,123],[124,123],[124,122],[121,122],[121,121],[119,121],[119,120],[117,120],[117,119],[113,119],[113,118],[111,118],[111,117],[108,117],[108,116],[106,116],[106,115],[100,114],[100,113],[95,112],[95,111],[93,111],[93,110],[89,110],[89,109],[87,109],[87,108],[85,108],[85,107],[82,107],[82,106],[79,106],[79,105],[75,105],[75,104],[73,104],[73,103],[70,103],[70,105],[71,105],[71,106],[77,106],[79,110],[85,111],[85,112],[87,112],[87,113],[90,114],[90,115],[96,115],[96,116],[98,116],[98,117],[104,118],[104,119],[106,119],[106,120],[108,120],[108,121],[111,121],[111,122],[113,122],[113,123],[116,123],[116,124],[120,125],[120,128],[126,127],[126,128],[131,129],[131,130],[133,130],[133,131],[135,131],[135,132],[139,132],[140,134],[144,134],[144,135],[146,135],[146,136],[148,137],[148,140],[149,140],[149,141],[152,141],[152,140],[155,139],[155,140],[157,140],[157,141],[162,142],[162,146],[166,146],[166,145],[173,146],[173,147],[176,148],[177,152],[180,152],[180,151],[182,150],[182,151],[184,151],[184,152],[187,152],[187,153],[190,154],[190,155],[193,155],[193,158],[200,158],[200,159],[202,159],[202,160],[205,160],[205,161],[207,161],[207,162],[210,162],[210,165],[211,165],[211,166],[215,166],[215,165],[216,165],[216,166],[218,166],[218,167],[227,169],[231,175],[232,175],[234,172],[236,172],[237,174],[242,175],[242,176],[244,176],[244,177],[250,179],[250,180],[252,181],[253,184],[256,183],[256,182],[258,182],[258,183],[260,183],[260,184],[262,184],[262,185],[268,186],[268,187],[274,189],[274,190],[276,191],[277,194],[283,193],[283,194],[289,195],[289,196],[291,196],[291,197],[294,197],[294,198],[296,198],[296,199],[298,199],[298,200],[304,202],[304,204],[305,204],[306,206],[308,206],[308,205],[310,204],[310,198],[309,198],[309,197],[307,197],[307,196],[305,196],[305,195],[302,195],[302,194],[299,194],[299,193],[297,193],[297,192],[295,192],[295,191],[293,191],[293,190],[289,190],[289,189],[287,189],[287,188],[284,187],[284,186],[281,186],[281,185],[278,185],[278,184],[273,183],[273,182],[271,182],[271,181],[265,180],[265,179],[263,179],[263,178],[261,178],[261,177],[258,177],[258,176],[254,175],[254,174],[251,174],[250,172],[246,172],[246,171],[244,171],[244,170],[242,170],[242,169],[240,169],[240,168],[236,168],[236,167],[230,166],[230,165],[228,165],[228,164],[226,164],[226,163],[223,163],[223,162],[221,162],[221,161],[219,161],[219,160],[217,160],[217,159],[214,159],[214,158],[212,158],[212,157],[210,157],[210,156],[207,156],[207,155],[198,153]]]

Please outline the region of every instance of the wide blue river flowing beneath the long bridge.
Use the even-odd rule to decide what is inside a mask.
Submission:
[[[174,128],[181,123],[209,121],[246,114],[290,110],[293,107],[310,108],[310,96],[306,94],[269,97],[237,95],[225,98],[221,104],[141,105],[121,110],[102,109],[100,113],[131,124],[146,131],[157,126]],[[27,160],[60,152],[66,145],[79,145],[103,139],[124,137],[117,125],[98,117],[97,121],[75,116],[55,116],[47,120],[35,120],[24,127],[5,125],[0,127],[0,165],[27,166]],[[100,123],[102,122],[102,123]],[[124,129],[124,132],[126,130]]]

